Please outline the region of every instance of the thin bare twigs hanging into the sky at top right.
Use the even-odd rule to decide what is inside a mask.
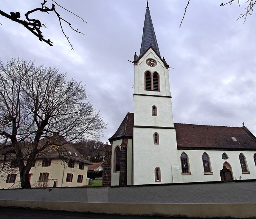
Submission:
[[[226,3],[221,3],[220,6],[224,6],[226,4],[230,4],[231,5],[234,1],[235,0],[229,0]],[[184,17],[185,17],[185,14],[186,14],[189,2],[190,2],[190,0],[188,0],[187,5],[185,7],[185,11],[184,11],[182,20],[180,22],[180,27],[181,27],[181,24],[182,24],[182,22],[184,20]],[[238,2],[238,6],[240,7],[240,0],[237,0],[237,2]],[[246,7],[244,8],[245,12],[244,12],[244,14],[240,14],[239,18],[237,19],[237,20],[239,20],[240,18],[244,18],[244,22],[246,22],[246,18],[247,18],[248,15],[252,15],[253,7],[256,4],[256,0],[245,0],[245,3],[247,4]]]

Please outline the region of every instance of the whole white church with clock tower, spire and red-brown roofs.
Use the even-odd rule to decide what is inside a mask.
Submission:
[[[170,69],[146,7],[134,55],[134,113],[106,145],[103,186],[256,179],[256,137],[243,125],[174,123]]]

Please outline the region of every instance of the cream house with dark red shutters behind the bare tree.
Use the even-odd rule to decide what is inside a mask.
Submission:
[[[88,185],[88,165],[92,163],[72,147],[60,135],[51,137],[55,144],[49,145],[38,154],[30,170],[30,184],[32,187],[66,187]],[[45,139],[40,140],[42,144]],[[62,146],[57,146],[62,145]],[[3,164],[3,156],[0,158]],[[18,167],[9,157],[1,171],[0,189],[19,188],[20,176]],[[1,165],[2,166],[2,165]]]

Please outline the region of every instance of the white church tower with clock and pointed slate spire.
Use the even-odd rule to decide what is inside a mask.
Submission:
[[[134,56],[133,185],[181,182],[168,74],[147,3]]]

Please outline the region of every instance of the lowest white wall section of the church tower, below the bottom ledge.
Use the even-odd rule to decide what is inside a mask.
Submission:
[[[153,134],[156,131],[159,133],[159,144],[154,144],[153,141]],[[181,176],[176,174],[180,173],[176,151],[174,129],[134,127],[133,184],[181,182]],[[160,168],[161,181],[155,181],[156,167]],[[176,172],[173,173],[172,169]]]

